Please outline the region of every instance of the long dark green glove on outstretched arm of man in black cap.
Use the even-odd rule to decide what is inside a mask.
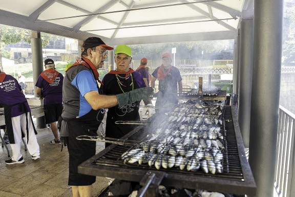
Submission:
[[[130,92],[123,94],[117,94],[117,99],[119,107],[133,103],[136,101],[141,101],[145,99],[153,99],[154,89],[152,87],[138,88]]]

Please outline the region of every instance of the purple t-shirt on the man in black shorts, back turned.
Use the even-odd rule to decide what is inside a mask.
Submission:
[[[61,104],[62,103],[62,82],[64,76],[58,73],[54,81],[50,84],[41,75],[38,77],[36,87],[41,88],[44,96],[44,104]]]

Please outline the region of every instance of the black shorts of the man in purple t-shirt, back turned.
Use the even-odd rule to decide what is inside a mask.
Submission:
[[[62,104],[44,105],[44,114],[46,124],[58,121],[62,112]]]

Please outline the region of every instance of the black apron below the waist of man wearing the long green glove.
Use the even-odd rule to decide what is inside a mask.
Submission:
[[[69,130],[69,137],[62,137],[66,140],[69,151],[69,182],[71,186],[92,185],[96,181],[96,176],[79,174],[78,166],[95,155],[96,142],[87,140],[77,140],[79,135],[89,135],[88,129],[81,125],[65,123],[65,129]],[[63,128],[63,127],[62,127]]]

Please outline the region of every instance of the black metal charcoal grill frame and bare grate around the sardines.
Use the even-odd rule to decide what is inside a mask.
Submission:
[[[154,166],[124,164],[120,156],[132,146],[111,145],[78,167],[78,172],[88,175],[107,176],[114,179],[140,182],[147,196],[156,196],[153,191],[159,184],[187,189],[205,189],[223,193],[255,195],[256,183],[244,152],[244,145],[236,116],[231,106],[225,106],[225,146],[223,172],[206,174],[202,171],[183,171],[177,168],[157,170]],[[151,122],[157,124],[138,126],[122,137],[125,140],[141,141],[156,129],[162,114],[155,114]],[[164,121],[164,119],[163,119]],[[150,189],[147,189],[149,186]]]

